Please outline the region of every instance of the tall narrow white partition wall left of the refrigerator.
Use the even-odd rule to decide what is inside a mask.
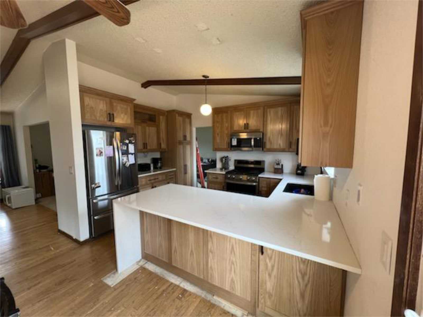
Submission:
[[[89,238],[77,52],[74,41],[52,43],[43,55],[59,229]]]

